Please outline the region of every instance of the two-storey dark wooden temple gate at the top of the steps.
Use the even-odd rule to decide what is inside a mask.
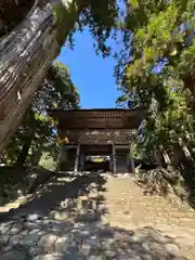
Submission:
[[[109,156],[110,172],[134,172],[132,141],[143,120],[143,109],[49,110],[57,122],[62,142],[60,169],[84,171],[89,155]]]

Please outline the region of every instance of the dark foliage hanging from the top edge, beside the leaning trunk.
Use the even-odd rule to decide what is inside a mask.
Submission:
[[[106,40],[110,36],[112,29],[118,25],[119,6],[116,0],[78,0],[74,6],[68,9],[63,5],[62,1],[62,3],[53,5],[53,13],[58,28],[57,40],[61,46],[68,36],[70,46],[74,47],[74,32],[89,27],[96,41],[96,51],[101,51],[104,56],[110,54],[110,48],[106,44]],[[75,27],[73,27],[74,24]]]

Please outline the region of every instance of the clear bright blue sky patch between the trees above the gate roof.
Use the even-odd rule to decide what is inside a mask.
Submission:
[[[95,54],[94,40],[88,30],[75,35],[75,48],[62,48],[58,61],[69,67],[72,80],[77,86],[82,108],[116,107],[116,99],[120,95],[115,82],[112,56],[103,58]],[[112,42],[114,50],[117,46]]]

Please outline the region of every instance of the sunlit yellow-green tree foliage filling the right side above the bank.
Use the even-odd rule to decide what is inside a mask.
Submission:
[[[169,151],[179,138],[194,143],[194,8],[193,0],[127,1],[115,75],[125,93],[118,102],[135,93],[147,112],[138,144],[143,157],[160,145]]]

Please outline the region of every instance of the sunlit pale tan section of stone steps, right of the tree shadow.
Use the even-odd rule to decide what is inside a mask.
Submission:
[[[195,211],[188,205],[146,196],[133,178],[109,178],[105,188],[106,222],[126,230],[155,227],[173,237],[185,257],[195,259]]]

